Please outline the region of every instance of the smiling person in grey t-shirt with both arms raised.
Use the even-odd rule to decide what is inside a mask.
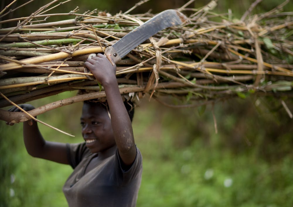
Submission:
[[[102,54],[88,59],[84,65],[103,85],[107,97],[105,104],[84,102],[80,120],[85,142],[45,141],[37,123],[30,120],[23,123],[25,147],[34,157],[74,168],[63,187],[69,207],[135,206],[142,155],[134,143],[132,117],[119,92],[116,66]],[[22,107],[33,109],[28,104]]]

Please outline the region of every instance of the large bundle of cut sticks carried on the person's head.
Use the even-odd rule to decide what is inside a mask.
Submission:
[[[104,98],[103,87],[85,72],[84,61],[154,16],[129,15],[129,11],[111,16],[97,10],[81,14],[78,9],[49,14],[47,8],[55,2],[28,17],[0,22],[18,22],[0,29],[0,107],[64,91],[87,91],[39,107],[31,113],[36,116],[74,102]],[[198,9],[182,6],[178,10],[188,13],[188,21],[158,32],[116,64],[120,93],[136,98],[146,94],[155,99],[173,97],[178,106],[252,93],[293,97],[293,13],[282,12],[288,2],[250,15],[256,1],[240,20],[231,13],[212,12],[216,1]],[[73,18],[48,22],[51,16]],[[2,120],[24,120],[24,115],[11,117],[3,110],[1,114]]]

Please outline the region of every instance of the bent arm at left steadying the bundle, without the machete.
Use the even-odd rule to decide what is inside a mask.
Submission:
[[[30,104],[20,105],[25,111],[34,109]],[[13,107],[10,111],[20,111]],[[46,141],[38,128],[37,122],[23,122],[23,140],[28,153],[37,158],[43,158],[62,164],[69,164],[66,154],[66,144]]]

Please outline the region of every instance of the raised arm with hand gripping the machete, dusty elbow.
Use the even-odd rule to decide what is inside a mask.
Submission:
[[[116,65],[112,65],[102,54],[88,59],[84,65],[104,87],[119,155],[125,165],[131,165],[136,156],[136,147],[131,121],[118,88]]]

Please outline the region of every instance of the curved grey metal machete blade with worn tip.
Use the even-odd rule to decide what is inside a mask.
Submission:
[[[187,20],[187,17],[179,11],[173,9],[162,11],[144,24],[129,32],[111,47],[107,47],[105,53],[111,54],[116,63],[137,45],[141,44],[152,35],[165,28],[180,25],[185,20]]]

